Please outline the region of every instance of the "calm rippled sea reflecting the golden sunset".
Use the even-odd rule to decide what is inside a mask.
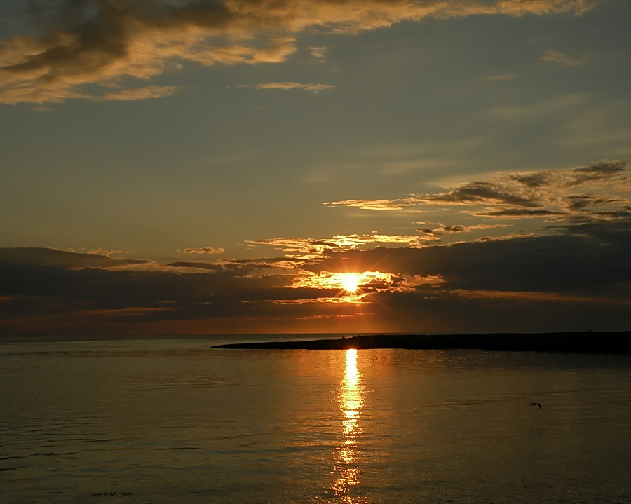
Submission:
[[[0,342],[0,502],[631,503],[629,355],[314,337]]]

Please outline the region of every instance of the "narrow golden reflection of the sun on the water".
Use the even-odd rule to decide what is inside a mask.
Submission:
[[[361,434],[359,425],[360,410],[364,404],[364,388],[357,366],[357,350],[346,350],[344,378],[338,395],[338,407],[341,416],[341,444],[335,449],[335,465],[331,486],[341,502],[365,504],[365,498],[353,498],[351,489],[360,484],[360,460],[358,458],[358,440]]]

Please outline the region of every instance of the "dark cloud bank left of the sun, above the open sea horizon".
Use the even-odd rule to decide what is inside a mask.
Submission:
[[[74,319],[98,325],[103,320],[295,318],[341,310],[313,304],[334,297],[337,290],[289,288],[292,276],[275,274],[269,265],[184,262],[164,271],[111,268],[118,262],[50,249],[0,249],[0,330],[38,327],[46,332],[50,327],[44,322],[61,319],[67,329]],[[206,271],[180,272],[189,268]],[[271,274],[255,274],[261,270]]]

